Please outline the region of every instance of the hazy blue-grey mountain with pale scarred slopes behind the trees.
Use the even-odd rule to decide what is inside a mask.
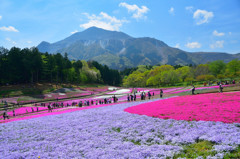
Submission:
[[[134,38],[123,32],[91,27],[55,43],[41,42],[40,52],[68,53],[70,59],[95,60],[110,68],[124,69],[138,65],[201,64],[215,60],[229,62],[240,59],[240,53],[186,52],[164,42],[149,38]]]

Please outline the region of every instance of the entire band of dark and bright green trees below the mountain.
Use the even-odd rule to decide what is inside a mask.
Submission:
[[[166,86],[240,77],[240,61],[214,61],[196,66],[145,66],[119,72],[96,61],[69,60],[67,53],[41,53],[37,48],[0,48],[0,84],[34,82],[101,83],[126,87]]]

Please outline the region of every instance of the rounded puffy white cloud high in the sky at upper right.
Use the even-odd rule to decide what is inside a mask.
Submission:
[[[193,18],[196,20],[197,25],[208,23],[213,16],[213,12],[200,9],[196,10],[193,14]]]

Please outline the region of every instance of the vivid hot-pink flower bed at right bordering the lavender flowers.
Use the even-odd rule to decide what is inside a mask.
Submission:
[[[181,96],[140,104],[125,111],[162,119],[240,123],[240,92]]]

